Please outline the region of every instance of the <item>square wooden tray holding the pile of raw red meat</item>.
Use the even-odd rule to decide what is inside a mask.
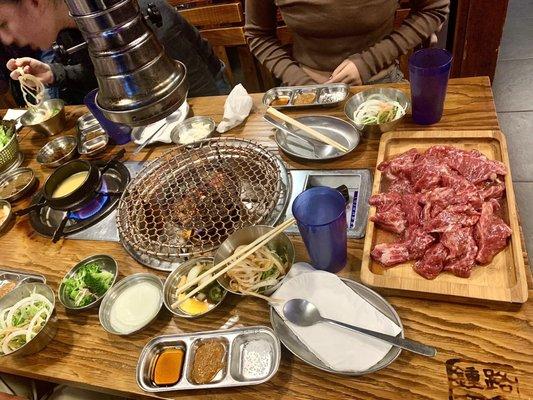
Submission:
[[[502,161],[509,173],[505,177],[503,200],[504,221],[513,234],[507,247],[486,266],[475,266],[470,278],[459,278],[449,272],[427,280],[412,269],[412,262],[385,269],[370,257],[378,243],[392,242],[397,236],[377,228],[369,221],[366,231],[361,280],[368,286],[387,289],[391,294],[448,299],[452,301],[491,300],[524,303],[528,297],[526,271],[522,254],[520,228],[516,211],[513,181],[505,136],[500,131],[424,131],[389,132],[381,137],[377,164],[411,148],[425,151],[434,145],[451,145],[465,150],[477,149],[488,158]],[[372,194],[383,191],[381,172],[376,170]],[[370,208],[369,216],[374,215]]]

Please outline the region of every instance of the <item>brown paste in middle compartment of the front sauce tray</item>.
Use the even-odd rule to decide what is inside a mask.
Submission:
[[[213,380],[226,365],[226,348],[219,340],[201,343],[194,354],[191,378],[194,383],[205,384]]]

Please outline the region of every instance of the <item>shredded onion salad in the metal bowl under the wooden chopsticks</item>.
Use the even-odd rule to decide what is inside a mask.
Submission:
[[[235,251],[244,246],[239,246]],[[262,247],[228,272],[231,290],[254,295],[285,276],[285,265],[274,250]]]

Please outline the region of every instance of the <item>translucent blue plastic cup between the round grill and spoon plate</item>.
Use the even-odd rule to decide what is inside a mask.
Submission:
[[[339,272],[346,265],[346,202],[329,187],[313,187],[300,193],[292,215],[315,268]]]

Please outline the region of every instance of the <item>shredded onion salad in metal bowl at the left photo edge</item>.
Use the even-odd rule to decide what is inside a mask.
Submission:
[[[0,311],[0,355],[20,349],[44,327],[53,304],[42,294],[32,293]]]

